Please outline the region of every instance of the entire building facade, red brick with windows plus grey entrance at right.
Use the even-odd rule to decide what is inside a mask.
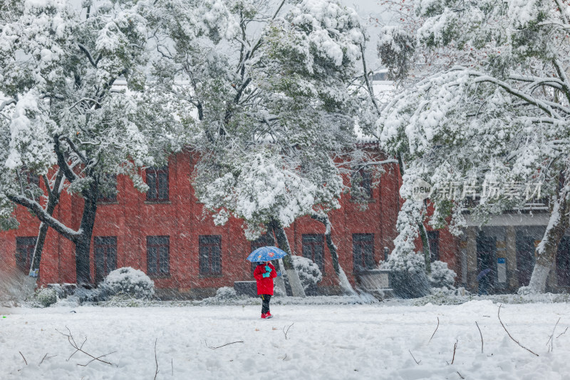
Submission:
[[[103,197],[98,204],[90,253],[93,283],[115,268],[133,267],[155,281],[157,294],[192,298],[212,295],[218,287],[231,287],[236,281],[253,280],[252,265],[245,258],[267,241],[264,237],[247,241],[242,221],[235,218],[224,226],[214,225],[190,184],[194,163],[195,158],[183,152],[172,155],[165,168],[145,170],[147,193],[135,190],[125,176],[116,178],[116,197]],[[393,250],[401,178],[397,164],[384,169],[380,184],[369,190],[366,208],[343,194],[341,208],[329,214],[339,262],[352,284],[358,283],[363,269],[375,268]],[[83,200],[63,192],[54,217],[78,228],[82,212]],[[39,222],[24,207],[16,209],[16,217],[21,223],[18,230],[0,232],[0,270],[18,268],[27,273]],[[534,247],[547,223],[548,211],[535,210],[492,217],[484,227],[467,216],[468,226],[458,238],[428,227],[432,261],[447,262],[457,273],[457,285],[471,291],[477,291],[477,274],[488,268],[490,292],[514,292],[529,282]],[[294,254],[310,258],[321,268],[318,291],[338,292],[322,223],[300,217],[286,233]],[[419,239],[417,245],[420,248]],[[48,230],[38,285],[76,282],[75,262],[73,243]],[[570,291],[570,232],[561,241],[552,269],[548,290]]]

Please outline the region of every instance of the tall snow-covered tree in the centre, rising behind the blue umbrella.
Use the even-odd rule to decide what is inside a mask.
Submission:
[[[271,225],[291,253],[284,227],[338,207],[335,155],[354,141],[362,99],[349,88],[365,36],[336,1],[286,3],[158,0],[148,11],[162,33],[156,75],[184,118],[197,119],[198,199],[217,223],[242,218],[249,239]]]

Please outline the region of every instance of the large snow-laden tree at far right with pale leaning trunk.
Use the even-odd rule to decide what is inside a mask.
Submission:
[[[544,292],[570,224],[570,5],[406,4],[419,26],[406,38],[386,37],[392,48],[385,50],[393,63],[405,61],[398,54],[413,59],[417,83],[395,96],[378,122],[383,147],[408,164],[401,192],[410,197],[415,181],[426,180],[435,206],[431,223],[445,225],[451,215],[455,230],[462,209],[481,216],[522,210],[541,184],[550,220],[526,290]],[[414,49],[398,48],[398,41],[413,41]],[[418,59],[418,51],[432,61]],[[467,201],[475,195],[480,202],[473,206]]]

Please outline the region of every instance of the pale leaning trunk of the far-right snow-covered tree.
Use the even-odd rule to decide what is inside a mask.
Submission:
[[[522,292],[526,289],[530,293],[544,293],[546,291],[546,279],[556,260],[558,245],[569,226],[568,212],[570,207],[566,197],[567,192],[561,190],[559,196],[554,197],[552,200],[553,206],[548,226],[546,226],[546,231],[544,231],[544,237],[542,237],[540,244],[534,251],[534,257],[537,258],[537,262],[534,264],[534,269],[532,269],[529,286],[519,289]]]

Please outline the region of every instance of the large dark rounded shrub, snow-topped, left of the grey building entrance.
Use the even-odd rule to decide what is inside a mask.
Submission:
[[[417,298],[430,294],[430,281],[425,274],[425,261],[420,253],[392,253],[388,260],[380,264],[380,269],[388,269],[390,287],[394,294],[402,298]]]

